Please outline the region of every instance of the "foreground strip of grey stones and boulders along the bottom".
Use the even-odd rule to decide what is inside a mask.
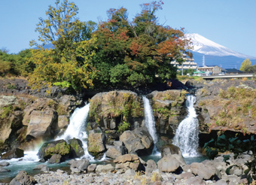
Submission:
[[[151,159],[144,162],[133,154],[120,156],[114,160],[115,164],[108,165],[73,159],[69,162],[72,172],[50,171],[46,165],[38,165],[41,174],[32,177],[20,171],[10,184],[248,184],[244,171],[251,156],[242,154],[236,159],[233,153],[229,156],[227,160],[225,155],[220,155],[190,165],[177,160],[175,154],[163,156],[157,163]]]

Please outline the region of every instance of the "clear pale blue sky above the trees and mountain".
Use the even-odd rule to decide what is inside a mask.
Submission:
[[[18,53],[29,48],[29,41],[38,38],[35,32],[39,17],[45,17],[54,0],[0,1],[0,49]],[[109,8],[126,8],[132,20],[141,11],[145,0],[74,0],[82,21],[107,20]],[[248,56],[256,56],[255,0],[163,0],[157,12],[159,23],[184,28],[185,33],[198,33],[211,41]]]

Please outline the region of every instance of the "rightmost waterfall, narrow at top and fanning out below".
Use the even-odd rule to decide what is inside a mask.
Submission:
[[[196,102],[195,96],[187,96],[185,103],[188,114],[178,125],[175,137],[173,138],[173,144],[180,147],[183,156],[199,156],[199,153],[197,153],[199,124],[194,102]]]

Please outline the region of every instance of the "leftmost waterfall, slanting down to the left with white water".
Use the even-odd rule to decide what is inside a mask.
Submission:
[[[70,117],[68,128],[63,135],[58,136],[55,140],[64,139],[65,141],[68,141],[72,138],[80,139],[83,143],[84,156],[89,160],[93,160],[93,156],[91,156],[87,150],[88,135],[85,131],[89,110],[90,104],[84,105],[83,108],[76,108]]]

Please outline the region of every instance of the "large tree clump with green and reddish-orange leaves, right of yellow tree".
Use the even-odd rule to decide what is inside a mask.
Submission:
[[[126,8],[110,9],[108,21],[99,23],[93,65],[100,86],[145,86],[175,78],[172,59],[182,59],[187,40],[183,29],[157,23],[162,2],[142,5],[141,13],[128,21]],[[104,66],[104,67],[103,67]]]

